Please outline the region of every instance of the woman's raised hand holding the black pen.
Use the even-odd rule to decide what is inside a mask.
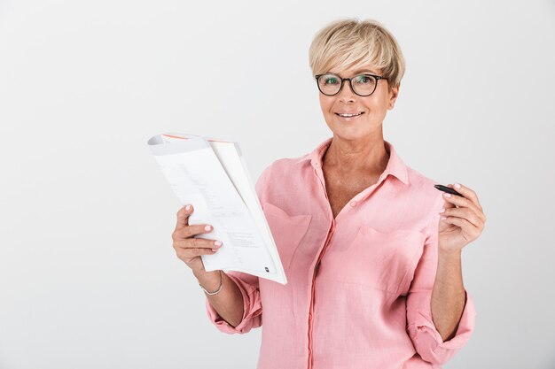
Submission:
[[[459,251],[477,239],[486,223],[476,193],[463,185],[447,185],[465,197],[443,193],[444,211],[439,223],[438,245],[440,250]],[[450,196],[446,196],[450,195]],[[446,218],[446,219],[442,219]]]

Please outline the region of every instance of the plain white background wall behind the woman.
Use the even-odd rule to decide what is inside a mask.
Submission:
[[[179,204],[146,145],[240,142],[253,178],[331,135],[312,37],[378,19],[407,61],[384,137],[480,197],[478,311],[446,368],[555,367],[553,1],[0,1],[0,368],[254,368],[171,245]]]

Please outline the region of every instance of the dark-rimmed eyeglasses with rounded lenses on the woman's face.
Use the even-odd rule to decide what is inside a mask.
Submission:
[[[315,76],[318,89],[325,96],[334,96],[340,93],[343,88],[343,82],[349,81],[351,89],[358,96],[371,96],[376,90],[379,80],[387,80],[374,74],[359,74],[353,78],[341,78],[335,73],[317,74]]]

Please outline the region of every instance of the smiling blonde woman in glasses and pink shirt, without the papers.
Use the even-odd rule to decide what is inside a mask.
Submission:
[[[221,242],[195,238],[211,227],[188,226],[192,205],[177,213],[177,257],[220,331],[244,334],[263,317],[259,368],[438,368],[473,332],[461,250],[484,227],[478,197],[438,191],[383,139],[404,60],[379,22],[324,27],[309,61],[333,136],[256,183],[288,283],[206,272],[200,255]]]

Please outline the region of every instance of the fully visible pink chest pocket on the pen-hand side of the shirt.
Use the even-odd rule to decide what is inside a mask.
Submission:
[[[416,230],[381,232],[363,226],[341,252],[339,280],[406,295],[424,240],[425,234]]]

